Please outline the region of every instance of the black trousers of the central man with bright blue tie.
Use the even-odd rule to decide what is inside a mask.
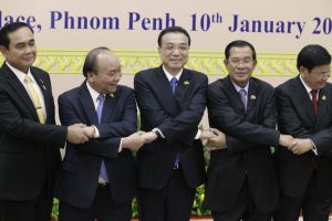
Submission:
[[[195,192],[196,189],[187,186],[181,168],[173,170],[163,189],[139,189],[139,221],[190,220]]]

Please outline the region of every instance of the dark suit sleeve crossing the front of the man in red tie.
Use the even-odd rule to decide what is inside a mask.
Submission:
[[[318,155],[329,151],[331,146],[332,127],[312,133],[307,129],[295,112],[290,94],[286,86],[277,88],[278,126],[283,134],[295,138],[310,138],[318,149]]]

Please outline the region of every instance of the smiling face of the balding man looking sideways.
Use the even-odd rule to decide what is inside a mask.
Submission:
[[[112,52],[103,52],[96,62],[97,71],[87,73],[89,84],[101,94],[114,93],[122,77],[118,59]]]

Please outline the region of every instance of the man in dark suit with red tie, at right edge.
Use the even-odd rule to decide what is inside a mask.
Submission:
[[[276,151],[281,209],[274,220],[328,221],[332,197],[331,55],[320,45],[307,45],[298,55],[300,74],[277,87],[278,127],[298,138]]]

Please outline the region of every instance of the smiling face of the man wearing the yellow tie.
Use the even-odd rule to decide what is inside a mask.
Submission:
[[[6,61],[13,67],[27,73],[35,61],[37,50],[31,30],[22,27],[8,33],[9,46],[1,46]]]

